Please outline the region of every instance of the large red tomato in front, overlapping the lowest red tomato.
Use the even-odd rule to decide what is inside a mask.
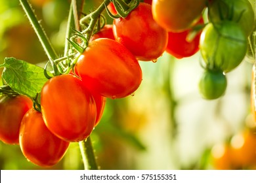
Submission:
[[[74,75],[49,79],[41,90],[41,111],[49,130],[64,141],[83,141],[93,131],[93,96]]]

